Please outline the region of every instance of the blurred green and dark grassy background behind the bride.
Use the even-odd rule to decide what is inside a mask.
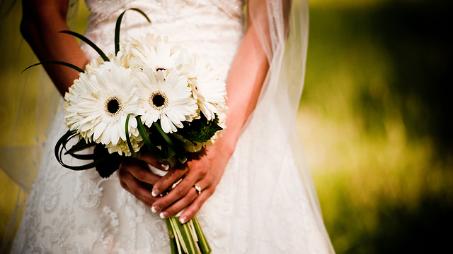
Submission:
[[[297,123],[337,253],[432,253],[453,239],[452,7],[310,1]],[[76,31],[87,15],[81,3]],[[2,230],[18,187],[2,171],[0,184]]]

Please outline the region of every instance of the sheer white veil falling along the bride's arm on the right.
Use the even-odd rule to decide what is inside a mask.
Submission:
[[[260,179],[267,174],[265,177],[275,179],[275,184],[285,167],[284,159],[294,157],[316,217],[316,226],[323,234],[328,251],[335,253],[323,224],[319,200],[295,125],[306,66],[308,1],[267,0],[264,3],[251,0],[248,6],[248,15],[257,28],[270,69],[256,109],[243,129],[248,132],[245,136],[250,136],[253,142],[247,147],[249,151],[242,151],[241,156],[253,155],[248,159],[253,167],[259,165],[263,168],[263,171],[255,171],[256,176],[250,179]],[[268,207],[273,207],[273,198],[270,197],[275,193],[275,186],[260,186],[259,181],[249,184],[253,186],[251,191],[256,191],[256,197],[260,197],[250,200],[250,205],[254,207],[251,210],[269,211]],[[260,215],[252,218],[265,222],[269,220],[268,215]],[[258,221],[256,223],[259,224]]]

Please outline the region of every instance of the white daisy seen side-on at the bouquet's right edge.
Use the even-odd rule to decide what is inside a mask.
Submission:
[[[192,66],[195,78],[189,78],[193,95],[197,98],[197,104],[206,119],[211,121],[219,116],[219,112],[225,107],[226,89],[225,83],[219,80],[219,73],[214,71],[210,63],[196,54],[188,55],[188,61]]]

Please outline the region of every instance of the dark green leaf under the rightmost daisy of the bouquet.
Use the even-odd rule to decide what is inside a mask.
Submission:
[[[219,123],[217,115],[214,120],[207,121],[206,117],[201,114],[200,119],[195,119],[190,123],[183,123],[184,127],[178,130],[178,134],[193,142],[203,143],[210,140],[217,131],[223,129],[217,123]]]

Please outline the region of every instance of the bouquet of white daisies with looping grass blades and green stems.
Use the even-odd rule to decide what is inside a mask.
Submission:
[[[102,177],[113,174],[122,158],[137,157],[144,149],[160,162],[176,158],[185,163],[188,153],[214,144],[226,128],[225,83],[210,63],[179,45],[171,46],[167,37],[147,34],[120,42],[123,15],[115,29],[115,54],[105,55],[86,37],[62,31],[90,44],[100,57],[86,71],[69,63],[45,62],[80,72],[64,96],[69,131],[59,139],[55,155],[64,167],[96,167]],[[73,138],[78,142],[67,149]],[[92,154],[76,153],[88,147],[94,147]],[[63,162],[63,155],[93,162],[71,166]],[[210,253],[196,217],[186,224],[168,218],[166,224],[172,253]]]

